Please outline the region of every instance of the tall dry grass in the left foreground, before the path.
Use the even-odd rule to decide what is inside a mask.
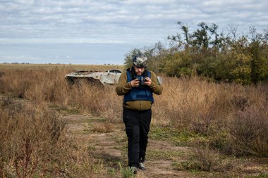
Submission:
[[[0,100],[0,177],[94,177],[102,163],[46,105]]]

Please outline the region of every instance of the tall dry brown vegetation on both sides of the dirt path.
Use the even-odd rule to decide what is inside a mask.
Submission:
[[[68,72],[64,68],[1,70],[1,175],[83,177],[94,170],[93,164],[101,164],[88,148],[66,136],[56,110],[101,115],[109,122],[93,131],[111,132],[110,123],[121,122],[122,98],[116,96],[114,86],[68,85],[64,79]],[[202,136],[188,143],[205,148],[197,152],[202,170],[217,170],[218,160],[207,149],[226,155],[267,156],[267,86],[164,77],[164,93],[155,100],[153,125]]]

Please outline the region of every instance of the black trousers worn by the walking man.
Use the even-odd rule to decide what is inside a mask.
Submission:
[[[138,167],[145,162],[152,110],[123,110],[128,136],[128,165]]]

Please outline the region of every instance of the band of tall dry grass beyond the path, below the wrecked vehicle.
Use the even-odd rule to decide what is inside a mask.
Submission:
[[[69,85],[64,76],[70,70],[6,70],[0,79],[1,92],[27,98],[39,103],[53,103],[63,108],[74,108],[87,113],[115,118],[120,113],[121,99],[114,86],[99,87],[86,82]]]

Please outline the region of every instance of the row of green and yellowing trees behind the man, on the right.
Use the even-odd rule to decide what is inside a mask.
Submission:
[[[163,42],[126,54],[126,68],[138,53],[148,57],[148,68],[173,77],[200,77],[215,82],[260,84],[268,82],[268,30],[257,32],[249,27],[238,34],[237,27],[229,25],[228,33],[218,32],[219,26],[199,23],[190,32],[189,26],[178,22],[179,32],[169,35],[169,47]]]

